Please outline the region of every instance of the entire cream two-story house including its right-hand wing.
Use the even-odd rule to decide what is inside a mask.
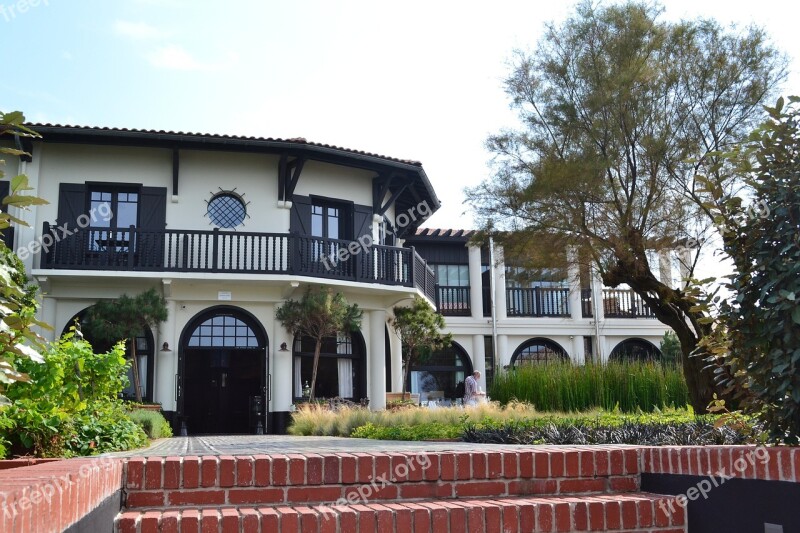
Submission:
[[[100,299],[155,288],[169,316],[135,340],[140,392],[190,434],[285,430],[314,344],[275,313],[309,287],[364,310],[360,331],[324,344],[316,395],[373,409],[402,390],[388,319],[415,295],[454,335],[411,369],[423,399],[453,398],[473,370],[485,387],[527,362],[657,356],[667,329],[635,294],[577,267],[517,283],[502,250],[474,246],[471,231],[420,229],[440,204],[415,161],[304,139],[34,129],[41,139],[16,139],[31,154],[19,172],[50,204],[19,213],[29,227],[4,238],[41,287],[46,335]],[[662,278],[669,269],[665,259]]]

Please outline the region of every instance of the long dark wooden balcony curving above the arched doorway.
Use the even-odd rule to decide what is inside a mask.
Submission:
[[[435,274],[413,248],[218,229],[88,227],[62,236],[45,223],[45,235],[53,244],[43,251],[42,269],[289,274],[416,287],[436,301]]]

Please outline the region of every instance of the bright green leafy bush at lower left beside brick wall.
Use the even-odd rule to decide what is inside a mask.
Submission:
[[[13,404],[0,412],[0,441],[17,454],[90,455],[147,443],[117,398],[127,385],[120,344],[103,354],[67,333],[50,346],[44,363],[15,361],[30,382],[8,387]],[[8,452],[9,450],[6,450]]]

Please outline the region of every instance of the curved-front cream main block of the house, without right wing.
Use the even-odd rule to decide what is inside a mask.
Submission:
[[[19,171],[51,203],[22,214],[13,248],[51,339],[99,299],[156,288],[169,318],[136,339],[143,397],[189,433],[253,432],[259,402],[262,426],[282,431],[313,343],[276,308],[324,285],[364,316],[323,346],[317,396],[380,409],[400,390],[387,319],[436,298],[433,271],[398,246],[439,207],[420,163],[304,139],[34,128]]]

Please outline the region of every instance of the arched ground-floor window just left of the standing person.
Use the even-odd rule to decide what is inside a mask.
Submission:
[[[472,362],[458,343],[433,352],[411,365],[410,390],[419,393],[420,401],[456,399],[456,385],[472,374]]]

